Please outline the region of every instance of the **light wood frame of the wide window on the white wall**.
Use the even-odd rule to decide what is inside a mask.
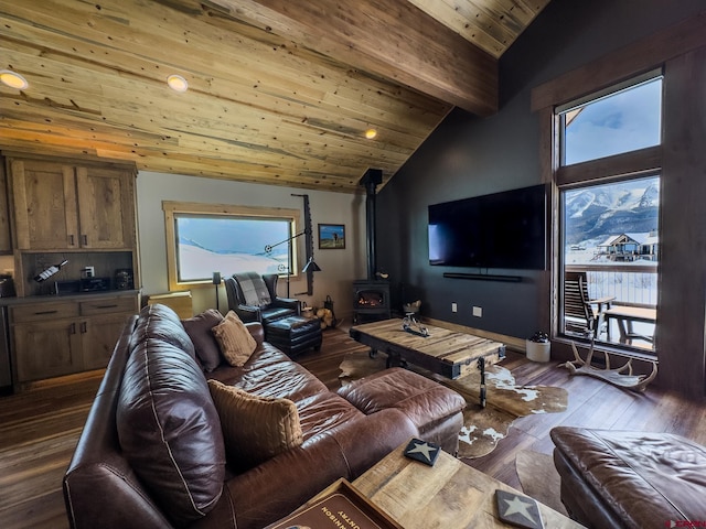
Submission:
[[[167,276],[170,291],[183,291],[192,288],[203,288],[213,285],[211,279],[200,281],[179,281],[179,259],[178,259],[178,241],[175,222],[180,215],[193,215],[200,217],[233,217],[248,219],[281,219],[290,223],[291,235],[299,234],[301,230],[301,217],[299,209],[290,209],[284,207],[260,207],[260,206],[242,206],[233,204],[206,204],[197,202],[172,202],[163,201],[162,210],[164,212],[164,230],[167,238]],[[291,270],[289,277],[296,280],[299,277],[299,248],[298,239],[291,240]],[[269,241],[265,241],[265,244]],[[271,241],[279,242],[278,240]],[[286,274],[280,274],[286,276]]]

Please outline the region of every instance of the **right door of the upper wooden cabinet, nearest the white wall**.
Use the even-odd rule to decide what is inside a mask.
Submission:
[[[131,248],[135,233],[133,182],[127,170],[77,168],[78,217],[83,248]]]

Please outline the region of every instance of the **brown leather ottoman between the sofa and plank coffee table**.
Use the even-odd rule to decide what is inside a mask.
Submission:
[[[434,380],[393,367],[342,387],[339,395],[366,415],[397,408],[417,427],[424,441],[439,444],[453,455],[459,450],[466,399]]]

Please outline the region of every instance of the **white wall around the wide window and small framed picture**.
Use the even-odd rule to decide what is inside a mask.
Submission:
[[[365,267],[365,196],[279,187],[271,185],[229,182],[225,180],[201,179],[178,174],[140,172],[137,177],[137,209],[140,239],[140,272],[142,294],[169,291],[167,279],[167,237],[162,201],[202,202],[206,204],[232,204],[240,206],[264,206],[299,208],[303,223],[303,198],[295,194],[309,195],[311,225],[313,228],[314,260],[322,269],[313,274],[313,295],[295,295],[307,291],[306,277],[290,283],[290,293],[306,301],[309,306],[323,305],[327,295],[334,302],[339,320],[352,314],[352,281],[364,278]],[[320,250],[318,224],[345,225],[345,249]],[[304,264],[304,241],[299,237],[300,268]],[[268,242],[264,240],[263,247]],[[287,293],[287,283],[279,281],[279,295]],[[194,313],[215,307],[215,288],[208,284],[191,291]],[[227,307],[223,285],[220,288],[221,310]]]

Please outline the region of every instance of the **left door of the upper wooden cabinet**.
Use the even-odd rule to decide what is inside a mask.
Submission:
[[[18,249],[78,248],[74,168],[33,160],[10,168]]]

